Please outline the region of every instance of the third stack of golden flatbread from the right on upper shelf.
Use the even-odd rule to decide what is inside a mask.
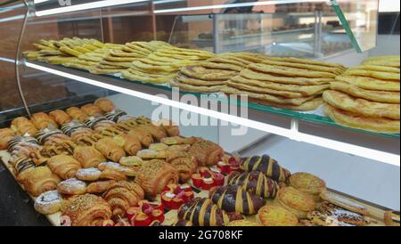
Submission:
[[[266,59],[257,53],[222,53],[196,65],[185,66],[176,73],[171,85],[188,92],[214,93],[248,65]]]

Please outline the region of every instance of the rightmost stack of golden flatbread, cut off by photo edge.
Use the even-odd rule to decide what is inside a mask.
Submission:
[[[399,133],[399,57],[373,57],[348,69],[323,94],[334,121],[380,133]]]

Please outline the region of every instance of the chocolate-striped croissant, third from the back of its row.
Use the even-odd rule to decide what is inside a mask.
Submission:
[[[244,191],[238,185],[212,188],[209,191],[209,199],[227,212],[241,213],[243,215],[256,215],[259,208],[264,206],[261,197]]]

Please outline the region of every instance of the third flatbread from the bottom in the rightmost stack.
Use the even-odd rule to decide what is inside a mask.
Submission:
[[[332,82],[330,88],[331,90],[336,90],[355,97],[364,98],[372,102],[400,102],[399,93],[364,90],[347,82]]]

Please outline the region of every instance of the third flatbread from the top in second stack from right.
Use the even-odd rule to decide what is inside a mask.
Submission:
[[[241,77],[246,77],[253,80],[275,82],[287,85],[325,85],[334,80],[333,78],[280,77],[251,69],[243,69],[240,74]]]

